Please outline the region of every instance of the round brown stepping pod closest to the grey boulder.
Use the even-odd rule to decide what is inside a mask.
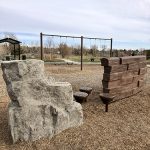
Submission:
[[[85,92],[75,92],[73,96],[77,102],[83,103],[86,102],[88,94]]]

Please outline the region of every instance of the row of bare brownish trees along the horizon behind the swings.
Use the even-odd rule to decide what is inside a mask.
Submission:
[[[10,37],[15,40],[17,40],[17,37],[12,33],[6,33],[5,37]],[[4,38],[5,38],[4,37]],[[5,55],[13,55],[13,45],[9,43],[1,44],[0,46],[0,57],[4,57]],[[70,46],[67,45],[67,43],[61,42],[59,45],[55,46],[54,41],[52,41],[50,38],[47,38],[47,40],[44,43],[44,53],[50,54],[50,55],[59,55],[62,58],[69,57],[71,55],[74,56],[80,56],[81,55],[81,46],[80,45],[74,45]],[[109,51],[107,50],[107,47],[105,45],[102,45],[101,50],[98,49],[98,46],[93,44],[89,47],[84,46],[83,47],[83,55],[87,56],[90,55],[91,57],[100,57],[105,56],[105,53],[109,54]],[[21,45],[21,54],[27,54],[27,55],[33,55],[36,57],[40,57],[40,46],[37,42],[29,45],[26,45],[23,43]],[[126,49],[120,49],[116,50],[113,49],[113,56],[114,57],[122,57],[122,56],[134,56],[134,55],[141,55],[146,54],[148,57],[150,57],[150,50],[126,50]]]

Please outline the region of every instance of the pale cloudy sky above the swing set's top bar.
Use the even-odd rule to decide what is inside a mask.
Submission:
[[[113,38],[115,48],[150,48],[150,0],[0,0],[0,33]]]

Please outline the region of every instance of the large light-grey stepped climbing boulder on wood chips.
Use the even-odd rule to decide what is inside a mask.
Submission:
[[[73,101],[70,83],[44,74],[41,60],[1,64],[11,99],[8,119],[13,142],[35,141],[83,123],[82,107]]]

